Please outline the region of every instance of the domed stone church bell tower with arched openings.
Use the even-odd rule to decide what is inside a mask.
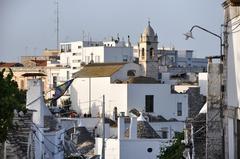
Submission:
[[[144,75],[158,79],[158,36],[148,21],[148,26],[141,34],[138,44],[139,64],[141,64]]]

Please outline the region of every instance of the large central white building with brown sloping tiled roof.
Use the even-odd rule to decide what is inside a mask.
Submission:
[[[106,114],[110,117],[115,107],[126,115],[135,108],[184,121],[188,114],[188,96],[171,93],[171,85],[160,84],[142,74],[141,66],[134,63],[87,65],[74,75],[72,107],[78,113],[99,116],[105,95]]]

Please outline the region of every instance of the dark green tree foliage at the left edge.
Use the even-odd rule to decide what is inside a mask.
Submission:
[[[17,82],[12,80],[13,72],[4,77],[5,69],[0,71],[0,143],[7,138],[12,128],[14,110],[25,111],[26,92],[18,89]]]

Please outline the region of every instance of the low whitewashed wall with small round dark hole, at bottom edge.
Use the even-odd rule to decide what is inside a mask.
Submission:
[[[95,153],[101,155],[102,139],[96,138]],[[106,159],[155,159],[160,154],[160,148],[169,146],[164,139],[118,140],[106,139]],[[147,149],[152,148],[152,152]]]

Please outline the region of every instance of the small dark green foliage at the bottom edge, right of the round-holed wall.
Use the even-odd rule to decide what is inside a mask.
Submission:
[[[181,141],[184,139],[183,133],[177,133],[175,136],[175,142],[172,146],[166,148],[166,150],[161,152],[161,159],[181,159],[183,158],[184,145]]]

